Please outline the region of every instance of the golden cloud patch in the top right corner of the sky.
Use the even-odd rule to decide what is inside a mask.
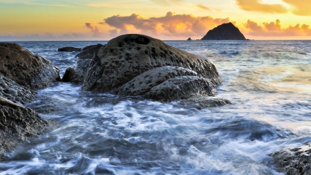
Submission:
[[[311,1],[310,0],[283,0],[290,4],[294,9],[294,15],[311,16]]]

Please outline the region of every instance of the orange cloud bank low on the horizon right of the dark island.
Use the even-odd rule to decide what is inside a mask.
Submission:
[[[295,26],[288,26],[288,28],[281,28],[281,21],[276,19],[275,22],[263,23],[259,26],[256,22],[248,20],[245,24],[245,31],[248,35],[261,37],[291,37],[291,36],[311,36],[311,29],[308,25],[296,24]]]

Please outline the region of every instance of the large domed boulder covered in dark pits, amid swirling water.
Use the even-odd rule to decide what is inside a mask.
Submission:
[[[83,68],[72,66],[68,72],[75,72],[73,69]],[[221,82],[208,59],[146,35],[132,34],[111,39],[98,50],[82,89],[171,102],[197,95],[214,96],[214,87]]]

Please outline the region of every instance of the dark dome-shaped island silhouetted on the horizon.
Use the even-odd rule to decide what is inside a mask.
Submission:
[[[244,35],[231,22],[209,30],[202,40],[246,40]]]

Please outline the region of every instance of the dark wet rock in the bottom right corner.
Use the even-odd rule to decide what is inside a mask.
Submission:
[[[280,172],[288,175],[311,174],[311,142],[294,148],[285,148],[271,154]]]

